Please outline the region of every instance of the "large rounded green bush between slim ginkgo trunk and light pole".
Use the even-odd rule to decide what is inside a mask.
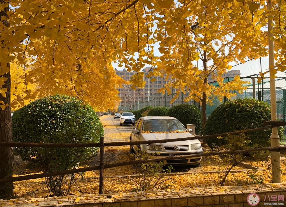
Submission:
[[[270,106],[264,101],[254,99],[236,99],[219,105],[208,117],[204,134],[221,134],[235,130],[264,127],[263,121],[271,120]],[[278,128],[282,136],[282,127]],[[271,129],[248,132],[251,145],[270,146]],[[217,148],[228,144],[225,139],[206,139],[207,145]]]

